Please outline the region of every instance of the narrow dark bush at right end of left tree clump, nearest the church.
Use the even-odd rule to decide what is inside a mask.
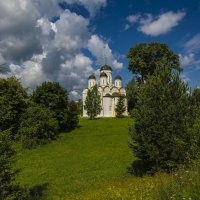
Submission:
[[[78,105],[74,101],[70,101],[67,110],[67,129],[72,130],[78,126]]]

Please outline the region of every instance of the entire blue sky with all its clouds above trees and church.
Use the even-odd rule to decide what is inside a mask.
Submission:
[[[152,41],[167,43],[181,78],[200,86],[200,0],[0,0],[0,76],[29,91],[58,81],[79,99],[105,62],[126,86],[129,49]]]

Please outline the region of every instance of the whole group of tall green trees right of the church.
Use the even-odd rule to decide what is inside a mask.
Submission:
[[[127,85],[136,175],[171,172],[200,153],[200,88],[180,78],[179,56],[166,44],[142,43],[128,53],[135,79]]]

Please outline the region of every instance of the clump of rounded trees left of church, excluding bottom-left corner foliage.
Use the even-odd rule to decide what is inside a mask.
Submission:
[[[0,79],[0,130],[33,148],[78,125],[78,107],[57,82],[44,82],[31,95],[15,77]]]

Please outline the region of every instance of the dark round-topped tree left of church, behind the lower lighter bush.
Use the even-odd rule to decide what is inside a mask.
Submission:
[[[58,120],[60,130],[67,129],[67,91],[57,82],[44,82],[33,91],[32,99],[36,104],[49,108]]]

